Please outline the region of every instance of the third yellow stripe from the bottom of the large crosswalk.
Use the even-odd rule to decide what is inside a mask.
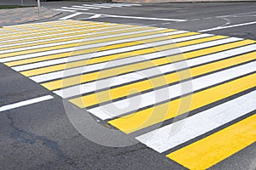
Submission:
[[[220,60],[218,62],[210,63],[207,65],[201,65],[201,66],[192,68],[189,71],[191,72],[191,77],[197,77],[199,75],[203,75],[212,71],[218,71],[232,65],[238,65],[247,61],[251,61],[253,59],[256,59],[255,55],[256,55],[256,52],[253,52],[250,54],[243,54],[241,56],[237,56],[234,58]],[[163,63],[166,62],[164,59],[162,60],[163,60]],[[169,60],[169,59],[166,59],[166,60]],[[159,63],[154,63],[154,61],[148,61],[148,65],[157,65],[157,64]],[[137,67],[139,65],[134,65],[134,66]],[[131,83],[119,88],[110,88],[109,90],[105,90],[100,93],[85,95],[83,97],[79,97],[76,99],[70,99],[69,101],[72,102],[74,105],[78,105],[80,108],[84,108],[90,105],[96,105],[96,104],[110,101],[113,99],[119,99],[121,97],[128,96],[129,94],[136,94],[149,89],[158,88],[160,86],[164,86],[172,82],[181,81],[181,79],[178,77],[178,75],[180,74],[182,74],[182,71],[171,73],[163,77],[154,77],[151,79],[144,80],[142,82]],[[164,79],[165,81],[162,81],[162,79]],[[131,92],[131,89],[136,89],[136,91]]]

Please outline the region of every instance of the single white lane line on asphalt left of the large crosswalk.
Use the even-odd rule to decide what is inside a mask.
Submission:
[[[54,99],[54,97],[52,97],[51,95],[46,95],[43,97],[39,97],[39,98],[35,98],[35,99],[27,99],[25,101],[20,101],[18,103],[15,104],[10,104],[10,105],[3,105],[0,107],[0,111],[8,111],[11,109],[15,109],[17,107],[21,107],[21,106],[25,106],[25,105],[32,105],[41,101],[45,101],[48,99]]]

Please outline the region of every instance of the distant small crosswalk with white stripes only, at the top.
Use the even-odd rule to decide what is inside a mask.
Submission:
[[[123,8],[123,7],[138,7],[142,6],[141,4],[133,3],[94,3],[94,4],[82,4],[82,5],[73,5],[70,7],[61,7],[55,8],[55,10],[67,11],[67,12],[83,12],[92,9],[102,9],[102,8]]]

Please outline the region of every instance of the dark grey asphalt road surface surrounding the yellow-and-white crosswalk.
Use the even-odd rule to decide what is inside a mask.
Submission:
[[[61,8],[83,2],[42,4],[46,8]],[[92,9],[88,13],[184,19],[188,21],[115,17],[93,20],[201,31],[256,21],[255,8],[256,3],[160,3],[141,7]],[[58,17],[68,14],[72,13],[63,13]],[[73,19],[90,20],[88,18],[93,14],[80,14]],[[256,40],[255,28],[254,24],[207,33]],[[0,112],[0,169],[185,169],[143,144],[113,148],[91,142],[73,127],[61,98],[3,64],[0,64],[0,76],[0,106],[46,94],[54,96],[54,99],[38,104]],[[255,152],[256,145],[251,144],[212,169],[255,169]]]

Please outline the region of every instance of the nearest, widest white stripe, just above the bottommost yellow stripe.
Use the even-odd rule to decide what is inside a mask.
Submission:
[[[145,133],[136,139],[160,153],[170,150],[255,110],[255,99],[256,91],[253,91],[182,121]]]

